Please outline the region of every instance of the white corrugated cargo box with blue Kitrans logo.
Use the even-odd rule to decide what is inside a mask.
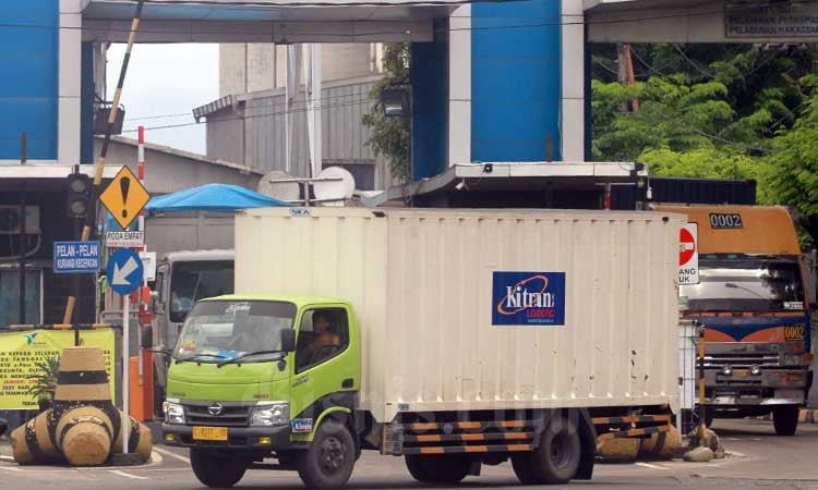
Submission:
[[[236,292],[348,299],[361,404],[677,406],[678,236],[659,212],[264,208]]]

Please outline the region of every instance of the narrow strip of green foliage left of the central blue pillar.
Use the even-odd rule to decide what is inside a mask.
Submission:
[[[385,88],[407,87],[409,85],[409,44],[389,42],[384,46],[384,76],[370,90],[373,105],[364,114],[362,122],[370,127],[366,146],[376,156],[383,155],[389,161],[392,176],[401,182],[409,179],[411,134],[408,118],[384,117],[384,105],[381,95]]]

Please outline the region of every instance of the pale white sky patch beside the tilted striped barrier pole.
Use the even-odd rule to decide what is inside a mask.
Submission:
[[[111,45],[108,50],[108,100],[113,99],[124,52],[125,45]],[[152,127],[193,123],[193,108],[218,98],[218,45],[135,45],[120,101],[125,107],[122,135],[135,139],[136,126],[143,125],[147,143],[204,155],[204,121]],[[167,114],[184,115],[140,119]]]

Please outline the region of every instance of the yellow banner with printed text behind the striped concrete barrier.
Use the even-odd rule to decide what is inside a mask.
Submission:
[[[113,330],[83,330],[82,345],[105,352],[105,369],[113,400]],[[0,409],[37,409],[37,400],[29,393],[39,373],[37,364],[59,357],[62,350],[73,347],[72,330],[24,330],[0,333]]]

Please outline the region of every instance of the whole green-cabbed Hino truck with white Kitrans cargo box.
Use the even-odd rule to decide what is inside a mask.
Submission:
[[[524,483],[590,479],[598,440],[678,407],[683,221],[243,211],[237,293],[197,302],[173,348],[165,443],[214,488],[273,468],[338,489],[364,450],[423,482],[509,460]]]

